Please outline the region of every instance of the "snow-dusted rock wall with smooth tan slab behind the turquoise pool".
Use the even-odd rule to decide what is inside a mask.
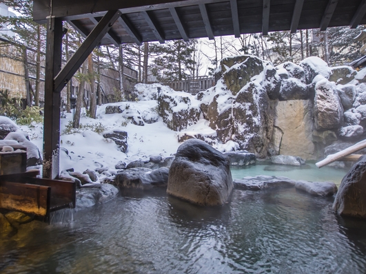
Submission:
[[[218,143],[234,142],[258,158],[314,160],[336,140],[365,138],[366,68],[328,67],[317,57],[274,67],[243,55],[223,59],[215,78],[216,86],[195,97],[163,94],[159,109],[170,129],[204,118]]]

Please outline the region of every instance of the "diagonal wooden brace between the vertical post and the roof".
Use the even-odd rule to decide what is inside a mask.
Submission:
[[[114,22],[120,17],[121,12],[119,10],[110,10],[99,21],[98,25],[90,32],[85,41],[78,48],[77,52],[72,55],[71,59],[66,63],[65,67],[54,78],[54,92],[61,92],[61,89],[65,87],[70,78],[79,70],[81,64],[92,53],[96,45],[101,42],[101,39],[112,28]]]

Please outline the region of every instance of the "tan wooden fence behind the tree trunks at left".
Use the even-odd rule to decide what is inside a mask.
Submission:
[[[34,98],[33,93],[36,84],[36,56],[37,51],[32,48],[24,48],[0,38],[0,89],[8,89],[11,97],[21,98],[30,103]],[[96,70],[95,67],[94,70]],[[124,67],[123,74],[123,89],[131,91],[137,83],[137,72],[130,67]],[[39,92],[41,106],[44,100],[44,75],[45,60],[44,54],[42,54]],[[119,98],[119,72],[117,70],[112,68],[101,69],[99,81],[102,103],[113,102]],[[77,78],[72,77],[70,83],[71,94],[76,96],[79,81],[77,81]],[[96,90],[97,83],[94,83],[94,85]],[[88,105],[90,101],[90,90],[90,83],[85,83],[85,105]],[[66,102],[66,88],[61,91],[61,100]]]

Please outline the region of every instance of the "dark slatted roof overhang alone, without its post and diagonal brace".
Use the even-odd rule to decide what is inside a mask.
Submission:
[[[101,45],[366,24],[365,0],[34,0],[34,21],[68,21],[88,36],[108,10],[121,15]]]

